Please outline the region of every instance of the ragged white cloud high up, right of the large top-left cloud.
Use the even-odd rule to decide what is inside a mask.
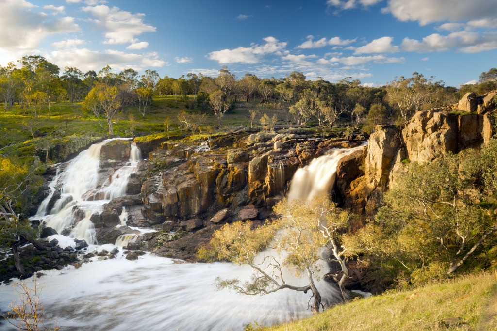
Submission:
[[[105,31],[104,44],[137,43],[136,36],[144,32],[155,32],[156,28],[143,21],[145,14],[132,14],[118,7],[106,5],[86,6],[83,11],[90,12],[96,19],[96,26]]]

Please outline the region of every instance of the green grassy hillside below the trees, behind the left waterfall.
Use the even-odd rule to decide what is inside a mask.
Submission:
[[[191,103],[193,101],[193,96],[188,98]],[[3,108],[3,107],[2,107]],[[223,118],[223,127],[231,126],[248,126],[250,125],[250,116],[248,114],[248,109],[257,109],[260,114],[266,113],[269,117],[273,114],[277,114],[278,119],[282,120],[285,117],[285,112],[280,110],[275,110],[273,105],[259,104],[258,100],[253,100],[250,103],[244,101],[237,102],[236,108],[229,111]],[[156,96],[154,97],[154,103],[145,114],[145,118],[136,110],[135,107],[131,106],[125,109],[124,115],[114,126],[114,133],[120,136],[130,136],[129,134],[129,115],[133,114],[135,119],[135,129],[134,132],[140,134],[143,133],[154,133],[163,132],[165,130],[164,122],[167,118],[170,119],[170,133],[176,134],[178,132],[178,113],[186,109],[186,102],[178,98],[178,103],[175,103],[174,96]],[[195,107],[190,112],[201,112],[199,107]],[[17,141],[24,141],[31,138],[31,134],[25,125],[24,121],[28,121],[30,116],[30,110],[23,110],[18,105],[12,107],[9,112],[0,112],[0,129],[5,131],[10,131],[11,134],[16,135]],[[218,121],[217,118],[212,115],[212,112],[206,111],[208,116],[206,117],[205,123],[202,125],[202,130],[212,130],[211,128],[217,129]],[[50,115],[50,116],[49,116]],[[254,124],[258,124],[260,116],[254,120]],[[39,130],[39,132],[52,134],[55,130],[62,130],[66,135],[72,134],[87,134],[87,135],[106,135],[105,131],[98,128],[92,121],[91,118],[82,111],[82,102],[74,103],[55,103],[51,105],[50,114],[47,107],[42,108],[41,116],[39,119],[34,121],[33,126]],[[209,128],[210,127],[210,128]]]

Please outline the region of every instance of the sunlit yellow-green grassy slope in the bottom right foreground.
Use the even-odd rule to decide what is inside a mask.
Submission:
[[[355,300],[266,330],[497,330],[497,272]]]

